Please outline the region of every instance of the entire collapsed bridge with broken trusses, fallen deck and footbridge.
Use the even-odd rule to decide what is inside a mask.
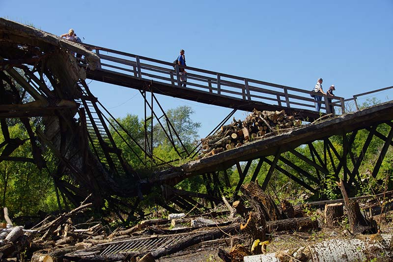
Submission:
[[[299,88],[193,67],[187,67],[187,87],[181,87],[178,70],[173,70],[171,63],[77,44],[5,19],[0,19],[0,35],[3,135],[0,161],[31,162],[46,168],[46,152],[50,151],[56,166],[51,174],[56,187],[75,205],[92,193],[96,206],[106,200],[111,207],[133,218],[143,196],[157,188],[164,198],[155,201],[170,211],[189,210],[194,206],[208,208],[201,199],[213,207],[221,202],[224,187],[234,186],[227,177],[228,169],[236,166],[239,174],[233,193],[236,199],[240,186],[246,180],[256,180],[262,165],[268,166],[263,189],[272,175],[279,172],[320,198],[327,176],[333,175],[337,180],[342,177],[347,184],[360,186],[359,167],[372,139],[383,141],[370,174],[373,177],[393,145],[393,102],[387,102],[253,141],[180,167],[164,163],[167,169],[141,175],[124,160],[110,132],[111,115],[91,93],[85,79],[139,89],[145,101],[146,92],[151,92],[152,97],[158,93],[234,110],[285,110],[287,114],[309,120],[319,117],[310,109],[314,100],[309,98],[309,91]],[[83,55],[83,61],[77,60],[73,52]],[[322,108],[329,111],[328,100],[324,101]],[[335,97],[333,106],[345,113],[343,98]],[[7,122],[11,118],[20,118],[28,142],[11,137]],[[32,125],[30,118],[40,118],[42,125]],[[380,125],[389,127],[387,134],[379,131]],[[354,141],[365,134],[362,151],[353,152]],[[342,150],[332,143],[331,138],[337,135],[342,138],[339,145]],[[132,137],[125,140],[137,143]],[[315,141],[323,141],[323,155],[315,149]],[[31,144],[32,158],[13,156],[15,149],[24,143]],[[142,145],[140,149],[153,158],[152,150],[148,151],[147,147]],[[310,157],[297,149],[305,147],[309,148]],[[311,169],[294,165],[290,157],[301,159]],[[248,174],[253,164],[256,165],[253,174]],[[175,187],[192,176],[202,177],[207,193]]]

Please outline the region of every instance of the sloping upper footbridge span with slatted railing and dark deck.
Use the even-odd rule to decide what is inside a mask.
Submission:
[[[314,99],[309,96],[310,88],[286,87],[189,66],[185,67],[187,87],[181,87],[177,73],[179,70],[174,70],[171,63],[92,45],[85,46],[95,50],[100,58],[98,68],[87,70],[87,78],[92,80],[244,111],[254,108],[260,111],[284,109],[287,114],[298,114],[303,119],[320,116],[314,111]],[[327,108],[329,113],[327,103],[327,99],[321,102],[322,111],[325,112]],[[336,112],[337,108],[341,112],[345,111],[342,97],[335,96],[332,103]]]

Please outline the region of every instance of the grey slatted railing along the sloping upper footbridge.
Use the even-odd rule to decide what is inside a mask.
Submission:
[[[309,90],[277,85],[191,66],[176,65],[173,68],[173,64],[170,62],[88,44],[84,45],[94,50],[100,57],[100,63],[98,63],[97,69],[102,71],[143,80],[154,80],[177,88],[194,89],[229,98],[238,98],[245,102],[263,102],[269,105],[291,109],[315,110],[316,101],[310,97],[310,94],[313,92]],[[104,52],[106,54],[103,54]],[[187,71],[187,87],[181,86],[179,68],[184,68]],[[331,105],[333,107],[338,107],[342,113],[345,113],[343,97],[322,96],[324,99],[319,102],[321,109],[326,110],[327,113],[331,113],[327,99],[329,98],[332,99]]]

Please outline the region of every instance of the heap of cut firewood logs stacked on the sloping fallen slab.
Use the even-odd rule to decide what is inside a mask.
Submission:
[[[206,157],[225,150],[242,146],[243,144],[277,135],[294,127],[302,125],[302,120],[287,116],[281,111],[258,111],[256,109],[244,121],[236,120],[223,125],[221,130],[211,136],[201,139],[202,155]]]

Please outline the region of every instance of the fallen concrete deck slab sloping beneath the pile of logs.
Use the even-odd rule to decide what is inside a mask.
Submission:
[[[274,155],[278,150],[285,152],[315,140],[367,128],[392,119],[393,101],[306,125],[275,137],[257,140],[238,148],[189,162],[181,166],[181,172],[175,170],[163,171],[159,180],[167,181],[169,184],[176,183],[192,175],[225,170],[238,161],[249,161]],[[391,145],[393,146],[393,142],[391,142]]]

